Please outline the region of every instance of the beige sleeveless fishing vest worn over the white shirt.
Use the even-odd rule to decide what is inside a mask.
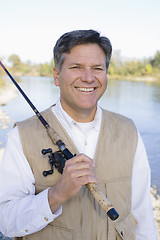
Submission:
[[[67,131],[51,111],[42,115],[73,154],[78,150]],[[43,148],[58,148],[47,136],[46,129],[36,116],[17,124],[23,151],[35,177],[36,194],[54,185],[61,178],[55,169],[49,170],[48,157],[41,154]],[[137,147],[137,131],[131,120],[103,110],[102,124],[94,159],[99,188],[106,194],[119,218],[111,221],[91,193],[84,186],[79,194],[62,206],[62,214],[43,230],[23,237],[23,240],[133,240],[136,221],[131,214],[131,179],[133,159]],[[21,239],[21,238],[17,238]]]

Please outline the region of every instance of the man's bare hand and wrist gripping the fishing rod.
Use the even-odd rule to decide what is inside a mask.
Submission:
[[[48,191],[49,205],[54,213],[65,201],[76,196],[89,182],[98,183],[94,175],[94,162],[84,154],[66,161],[60,181]]]

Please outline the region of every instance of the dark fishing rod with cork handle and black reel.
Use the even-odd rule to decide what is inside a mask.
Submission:
[[[50,149],[50,148],[42,150],[42,154],[44,154],[44,155],[46,153],[50,153],[49,162],[51,164],[51,170],[44,171],[43,175],[46,177],[47,175],[52,174],[53,173],[53,165],[55,165],[55,168],[57,168],[58,171],[62,174],[63,173],[63,168],[65,166],[65,161],[68,160],[68,159],[71,159],[72,157],[74,157],[74,155],[68,150],[66,145],[62,142],[62,140],[60,139],[60,137],[56,133],[56,131],[51,126],[49,126],[49,124],[46,122],[46,120],[42,117],[40,112],[36,109],[36,107],[33,105],[33,103],[30,101],[30,99],[27,97],[27,95],[24,93],[22,88],[18,85],[16,80],[12,77],[12,75],[5,68],[5,66],[2,64],[1,61],[0,61],[0,65],[4,69],[4,71],[7,73],[9,78],[12,80],[14,85],[17,87],[19,92],[22,94],[22,96],[25,98],[25,100],[28,102],[30,107],[33,109],[36,116],[38,117],[38,119],[43,124],[43,126],[46,128],[47,133],[48,133],[49,137],[51,138],[52,142],[55,145],[58,146],[58,148],[60,150],[59,152],[62,153],[62,154],[60,154],[59,152],[57,152],[57,155],[54,155],[54,153],[52,153],[52,149]],[[57,159],[58,159],[58,162],[57,162]],[[85,186],[93,194],[94,198],[99,203],[99,205],[103,208],[103,210],[107,213],[108,217],[113,221],[116,220],[119,217],[119,214],[114,209],[112,204],[109,202],[107,197],[97,188],[96,184],[95,183],[88,183]]]

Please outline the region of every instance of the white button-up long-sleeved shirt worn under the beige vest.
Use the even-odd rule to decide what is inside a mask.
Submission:
[[[79,152],[93,158],[101,126],[101,108],[97,108],[95,119],[90,123],[75,122],[62,109],[60,101],[52,111],[67,129]],[[35,179],[15,127],[8,134],[0,165],[0,231],[5,236],[18,237],[37,232],[62,214],[63,207],[52,214],[48,189],[35,195],[34,184]],[[132,173],[131,211],[138,222],[136,240],[157,240],[150,198],[150,167],[139,134]]]

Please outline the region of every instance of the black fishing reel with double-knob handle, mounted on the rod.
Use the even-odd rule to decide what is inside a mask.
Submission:
[[[48,154],[49,163],[51,166],[51,169],[48,171],[43,171],[43,176],[47,177],[48,175],[53,174],[54,167],[58,170],[59,173],[63,173],[63,168],[65,166],[66,158],[61,151],[56,151],[53,153],[51,148],[48,149],[42,149],[42,154],[46,155]]]

